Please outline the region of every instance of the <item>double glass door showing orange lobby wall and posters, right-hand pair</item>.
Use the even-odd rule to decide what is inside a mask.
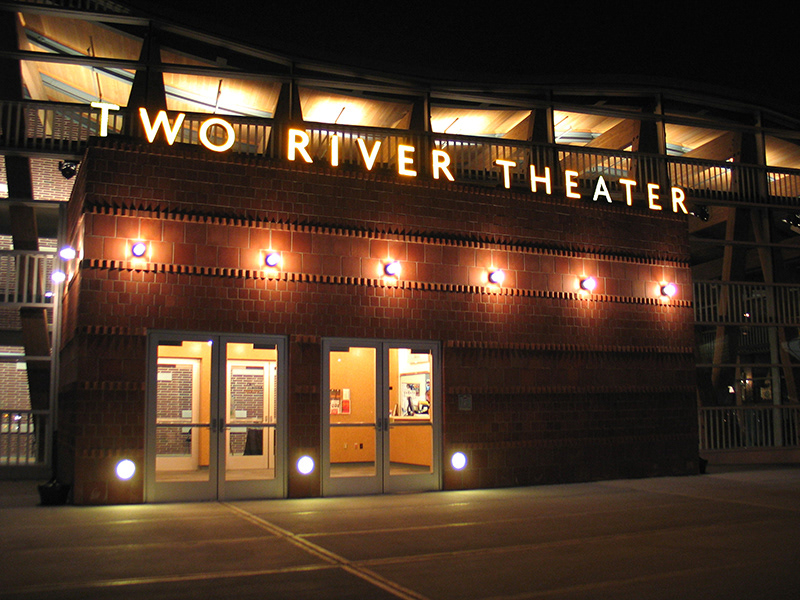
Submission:
[[[440,487],[439,347],[323,341],[322,491]]]

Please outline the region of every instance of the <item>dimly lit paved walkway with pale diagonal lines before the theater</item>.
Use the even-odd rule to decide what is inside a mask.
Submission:
[[[800,598],[800,467],[428,494],[39,507],[0,598]]]

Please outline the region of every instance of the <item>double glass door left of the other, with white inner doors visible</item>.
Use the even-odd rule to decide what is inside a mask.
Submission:
[[[148,501],[285,495],[282,338],[153,333]]]

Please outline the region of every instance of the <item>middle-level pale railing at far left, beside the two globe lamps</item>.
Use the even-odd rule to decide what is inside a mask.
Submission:
[[[0,250],[0,304],[53,303],[52,252]]]

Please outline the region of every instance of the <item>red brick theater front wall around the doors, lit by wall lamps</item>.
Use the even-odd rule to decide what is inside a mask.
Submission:
[[[443,343],[444,456],[471,461],[445,469],[446,487],[696,470],[681,218],[196,148],[91,148],[76,186],[84,255],[65,339],[77,366],[62,383],[76,390],[68,413],[100,413],[94,429],[73,423],[76,451],[143,447],[145,331],[175,329],[290,336],[290,457],[319,453],[320,338],[342,336]],[[275,271],[267,249],[281,252]],[[398,282],[381,277],[389,257]],[[506,270],[502,288],[489,267]],[[680,290],[668,303],[664,281]],[[138,425],[118,438],[102,415],[122,405]],[[290,477],[289,491],[318,481]]]

